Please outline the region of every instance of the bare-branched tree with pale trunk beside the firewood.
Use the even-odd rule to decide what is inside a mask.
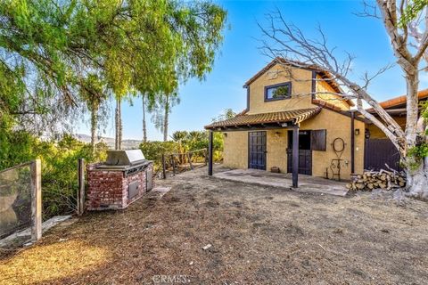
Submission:
[[[341,95],[345,99],[355,99],[359,112],[378,126],[398,149],[407,171],[409,195],[424,199],[428,199],[428,111],[426,104],[419,111],[417,91],[419,74],[426,69],[426,65],[423,67],[422,64],[428,60],[427,4],[426,0],[377,0],[376,4],[366,2],[364,12],[358,13],[383,20],[385,31],[391,39],[391,49],[407,85],[407,123],[404,130],[367,90],[371,81],[391,65],[373,75],[365,73],[358,84],[350,80],[354,57],[346,52],[341,57],[335,47],[328,45],[321,28],[318,28],[318,38],[306,37],[299,27],[287,22],[279,10],[268,14],[268,27],[259,25],[264,35],[261,40],[263,53],[332,74],[346,90]],[[286,60],[278,62],[287,64]],[[377,116],[367,112],[363,102],[372,107]]]

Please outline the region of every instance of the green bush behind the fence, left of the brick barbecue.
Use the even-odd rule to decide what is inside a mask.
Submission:
[[[73,213],[77,206],[78,159],[87,163],[106,159],[107,146],[96,145],[95,154],[89,144],[70,135],[62,140],[41,141],[25,132],[9,132],[0,138],[0,169],[13,167],[32,159],[42,162],[42,199],[44,220]]]

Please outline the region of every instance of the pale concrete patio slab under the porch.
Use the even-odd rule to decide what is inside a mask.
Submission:
[[[234,169],[213,175],[219,179],[252,183],[261,186],[279,187],[295,191],[318,192],[335,196],[345,196],[348,190],[344,182],[310,175],[299,175],[299,188],[292,188],[292,174],[271,173],[259,169]]]

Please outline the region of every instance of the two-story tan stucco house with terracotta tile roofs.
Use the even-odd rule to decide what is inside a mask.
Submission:
[[[276,58],[243,86],[246,110],[205,126],[224,134],[226,167],[287,173],[298,157],[299,174],[350,179],[363,171],[365,119],[328,72]]]

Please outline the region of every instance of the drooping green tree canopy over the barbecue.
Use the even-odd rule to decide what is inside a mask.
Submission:
[[[210,71],[225,23],[210,2],[2,0],[0,123],[45,130],[99,90],[172,93]]]

